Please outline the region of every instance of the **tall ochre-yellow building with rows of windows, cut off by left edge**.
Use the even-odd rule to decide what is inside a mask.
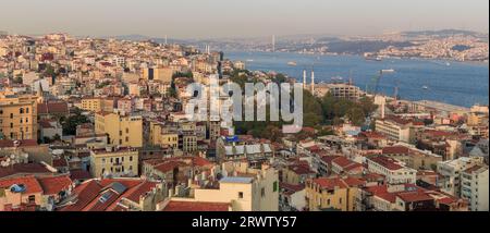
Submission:
[[[0,138],[37,140],[37,97],[0,94]]]

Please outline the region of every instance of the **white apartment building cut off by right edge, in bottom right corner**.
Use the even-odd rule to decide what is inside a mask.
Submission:
[[[471,211],[488,211],[488,165],[474,165],[461,174],[461,197]]]

